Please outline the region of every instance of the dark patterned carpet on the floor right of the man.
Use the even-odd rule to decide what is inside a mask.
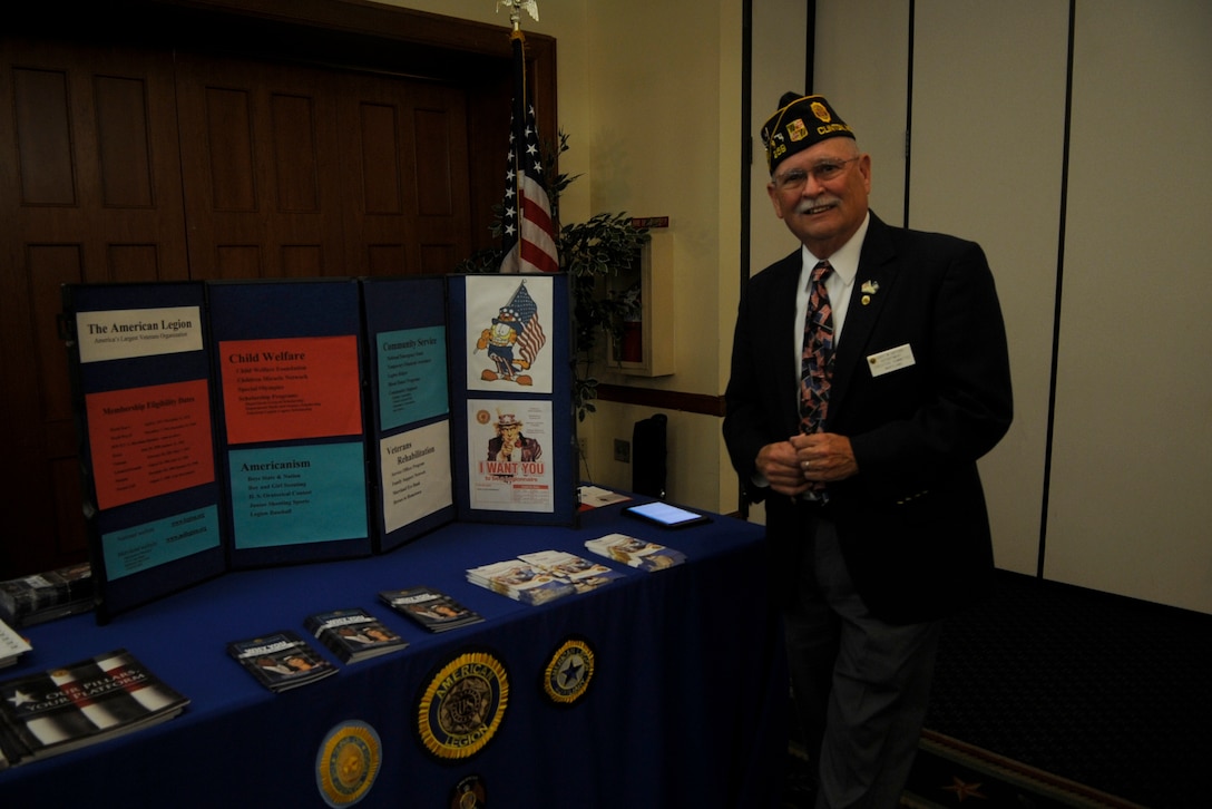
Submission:
[[[999,572],[944,631],[902,805],[1212,805],[1210,651],[1212,616]]]

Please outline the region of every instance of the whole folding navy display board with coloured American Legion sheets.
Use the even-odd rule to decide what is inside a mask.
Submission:
[[[97,617],[451,522],[570,525],[565,275],[63,287]]]

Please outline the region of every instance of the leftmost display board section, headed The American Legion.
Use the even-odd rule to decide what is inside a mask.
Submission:
[[[227,569],[206,289],[64,287],[64,309],[105,620]]]

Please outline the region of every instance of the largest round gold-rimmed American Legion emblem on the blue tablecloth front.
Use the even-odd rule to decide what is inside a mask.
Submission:
[[[492,740],[509,703],[509,676],[488,651],[468,651],[441,666],[417,706],[427,751],[445,760],[470,758]]]

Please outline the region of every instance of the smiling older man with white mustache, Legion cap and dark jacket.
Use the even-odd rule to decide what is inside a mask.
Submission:
[[[724,435],[766,503],[816,805],[888,809],[941,621],[993,572],[977,458],[1011,422],[1006,332],[977,244],[868,210],[871,158],[827,99],[785,95],[762,141],[801,249],[742,295]]]

